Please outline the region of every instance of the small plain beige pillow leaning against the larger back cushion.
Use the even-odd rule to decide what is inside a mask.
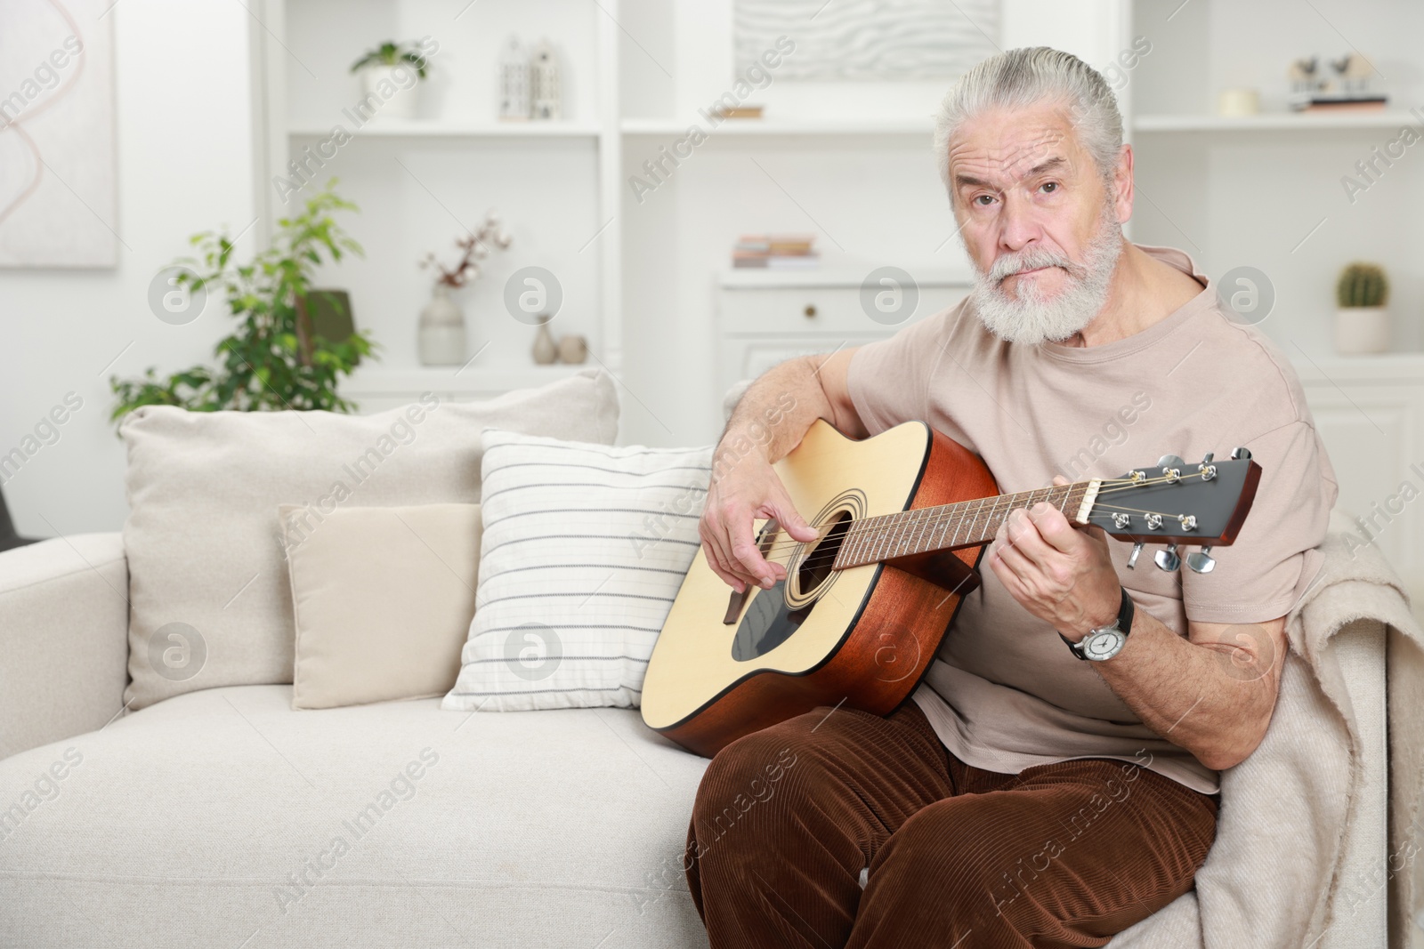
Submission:
[[[480,505],[278,508],[296,617],[293,709],[427,699],[474,616]]]

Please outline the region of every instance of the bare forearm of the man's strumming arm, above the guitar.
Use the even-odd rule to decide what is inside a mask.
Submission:
[[[802,356],[773,366],[742,394],[712,458],[712,479],[723,478],[756,452],[768,462],[785,458],[817,418],[834,421],[817,369],[824,356]]]

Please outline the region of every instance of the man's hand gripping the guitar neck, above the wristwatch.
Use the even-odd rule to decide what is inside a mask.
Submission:
[[[988,548],[988,565],[1024,609],[1072,642],[1109,625],[1122,605],[1106,535],[1075,528],[1045,501],[1010,512]]]

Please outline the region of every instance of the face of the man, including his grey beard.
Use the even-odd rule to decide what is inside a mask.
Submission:
[[[953,208],[995,334],[1072,336],[1102,307],[1121,253],[1121,202],[1078,144],[1067,107],[985,112],[948,148]]]

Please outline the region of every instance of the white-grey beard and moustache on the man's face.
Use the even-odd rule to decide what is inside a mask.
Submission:
[[[1112,205],[1108,203],[1082,263],[1044,248],[1001,255],[988,272],[980,270],[971,259],[974,312],[984,329],[1005,343],[1037,346],[1062,341],[1092,323],[1102,310],[1121,253],[1122,225],[1114,219]],[[1001,286],[1004,277],[1020,270],[1051,266],[1068,272],[1068,283],[1052,297],[1045,297],[1031,279],[1020,280],[1017,297]]]

